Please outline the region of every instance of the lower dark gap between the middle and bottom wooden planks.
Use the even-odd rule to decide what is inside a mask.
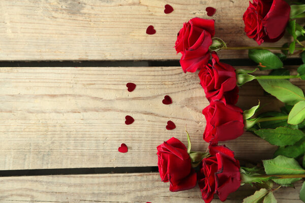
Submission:
[[[0,171],[0,177],[124,174],[124,173],[152,173],[152,172],[158,172],[158,167],[143,166],[143,167],[97,167],[97,168],[52,168],[52,169],[33,169],[33,170],[7,170],[7,171]]]

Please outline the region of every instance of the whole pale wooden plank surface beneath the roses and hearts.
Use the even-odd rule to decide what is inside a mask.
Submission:
[[[172,13],[164,13],[166,4]],[[176,34],[193,17],[216,19],[216,36],[228,46],[256,45],[243,31],[248,5],[245,0],[1,0],[0,202],[203,202],[198,186],[172,193],[156,173],[156,147],[173,136],[187,144],[186,125],[193,149],[207,147],[201,111],[208,101],[197,74],[162,61],[179,59]],[[212,17],[206,15],[208,6],[217,9]],[[155,35],[145,33],[149,25]],[[289,40],[285,36],[272,45]],[[247,55],[220,52],[221,59],[235,62]],[[37,61],[50,66],[33,65]],[[54,67],[60,61],[119,66]],[[150,61],[161,65],[149,66]],[[127,91],[128,82],[137,85],[133,92]],[[173,104],[162,104],[165,95]],[[239,95],[243,110],[258,98],[274,110],[283,105],[264,95],[257,82],[242,86]],[[135,122],[126,125],[126,115]],[[174,130],[166,130],[168,120]],[[117,151],[121,143],[128,153]],[[276,150],[249,132],[225,144],[250,161],[271,158]],[[279,189],[278,202],[301,202],[300,186]],[[242,202],[254,190],[242,186],[226,202]]]

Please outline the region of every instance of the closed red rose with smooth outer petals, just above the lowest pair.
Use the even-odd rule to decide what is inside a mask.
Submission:
[[[206,119],[205,142],[233,140],[243,133],[242,110],[223,101],[211,101],[202,113]]]

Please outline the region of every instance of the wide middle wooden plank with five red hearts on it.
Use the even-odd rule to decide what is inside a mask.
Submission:
[[[137,85],[133,92],[128,82]],[[165,95],[173,104],[162,104]],[[274,110],[282,105],[250,82],[238,106],[249,109],[258,99]],[[201,112],[209,103],[197,74],[180,67],[3,67],[0,104],[0,170],[155,166],[163,141],[187,144],[186,125],[193,149],[207,147]],[[126,125],[126,115],[135,122]],[[168,120],[174,130],[166,130]],[[117,151],[121,143],[128,153]],[[249,132],[223,144],[250,160],[276,149]]]

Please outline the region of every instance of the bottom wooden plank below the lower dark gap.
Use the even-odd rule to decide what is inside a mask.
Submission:
[[[1,177],[2,202],[203,202],[198,186],[191,190],[170,192],[159,174],[104,174],[37,177]],[[275,192],[279,203],[300,203],[296,188]],[[255,188],[245,185],[231,193],[227,203],[241,203]],[[220,203],[214,199],[212,203]]]

